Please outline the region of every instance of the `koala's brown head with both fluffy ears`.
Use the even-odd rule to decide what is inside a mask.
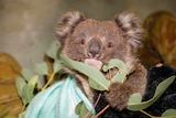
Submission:
[[[72,11],[58,20],[56,35],[63,45],[63,54],[72,60],[101,66],[111,58],[119,58],[131,66],[143,29],[140,20],[129,12],[118,14],[111,21],[98,21]]]

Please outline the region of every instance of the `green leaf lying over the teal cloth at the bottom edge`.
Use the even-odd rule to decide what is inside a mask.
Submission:
[[[87,118],[86,116],[89,114],[89,110],[86,108],[85,104],[80,101],[76,108],[75,112],[79,115],[79,118]]]

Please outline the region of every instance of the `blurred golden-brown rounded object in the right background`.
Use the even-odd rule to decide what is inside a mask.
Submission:
[[[142,63],[146,67],[160,62],[176,67],[176,17],[170,12],[157,11],[144,20],[143,26],[146,37],[139,50]]]

